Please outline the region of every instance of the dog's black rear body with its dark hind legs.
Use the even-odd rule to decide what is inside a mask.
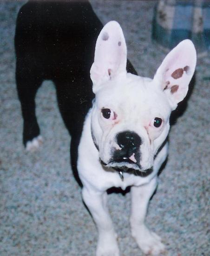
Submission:
[[[52,80],[68,131],[79,133],[93,98],[89,70],[101,22],[87,1],[29,1],[18,14],[16,81],[24,118],[23,141],[39,136],[34,97]]]

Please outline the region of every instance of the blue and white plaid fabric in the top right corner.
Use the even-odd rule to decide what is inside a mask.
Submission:
[[[198,54],[210,50],[210,0],[160,0],[154,11],[152,39],[167,49],[190,39]]]

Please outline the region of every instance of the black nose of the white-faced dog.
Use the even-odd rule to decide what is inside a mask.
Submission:
[[[134,132],[125,131],[117,135],[117,143],[128,156],[131,156],[140,147],[141,138]]]

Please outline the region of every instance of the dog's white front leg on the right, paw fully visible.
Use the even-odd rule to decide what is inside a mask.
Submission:
[[[164,251],[160,237],[151,232],[144,223],[148,202],[156,187],[156,177],[145,185],[131,187],[131,233],[139,248],[145,254],[151,255],[159,255]]]

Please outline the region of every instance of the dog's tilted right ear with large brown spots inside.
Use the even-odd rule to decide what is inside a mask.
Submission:
[[[183,40],[165,57],[154,80],[164,90],[171,107],[184,99],[196,67],[196,49],[190,40]]]

